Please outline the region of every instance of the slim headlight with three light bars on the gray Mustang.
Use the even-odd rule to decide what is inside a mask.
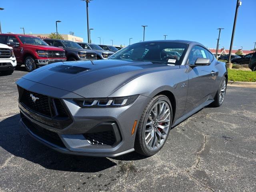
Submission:
[[[86,98],[75,99],[76,103],[82,108],[90,107],[122,107],[132,104],[139,95],[112,98]]]

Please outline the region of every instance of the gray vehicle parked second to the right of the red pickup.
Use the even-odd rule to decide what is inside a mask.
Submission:
[[[107,59],[108,56],[114,54],[112,51],[105,51],[100,46],[92,43],[78,43],[83,49],[93,50],[97,54],[97,59]]]

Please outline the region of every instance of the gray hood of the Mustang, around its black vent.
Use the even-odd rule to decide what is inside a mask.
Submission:
[[[53,71],[54,66],[63,64],[67,67],[78,66],[89,70],[77,74]],[[166,67],[165,64],[127,60],[58,62],[38,68],[22,78],[74,92],[86,98],[107,97],[137,76],[152,71],[166,70]]]

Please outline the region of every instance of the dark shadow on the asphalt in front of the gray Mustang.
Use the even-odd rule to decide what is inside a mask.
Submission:
[[[46,169],[69,172],[99,172],[116,166],[116,163],[108,158],[56,152],[31,138],[26,130],[20,127],[19,121],[20,115],[16,114],[0,122],[0,146],[14,156],[40,164]]]

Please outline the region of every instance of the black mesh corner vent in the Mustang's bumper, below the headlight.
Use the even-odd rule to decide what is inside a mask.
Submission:
[[[114,145],[116,142],[116,138],[114,136],[114,132],[111,131],[103,131],[103,132],[95,132],[95,133],[86,133],[84,137],[88,142],[92,145]]]

